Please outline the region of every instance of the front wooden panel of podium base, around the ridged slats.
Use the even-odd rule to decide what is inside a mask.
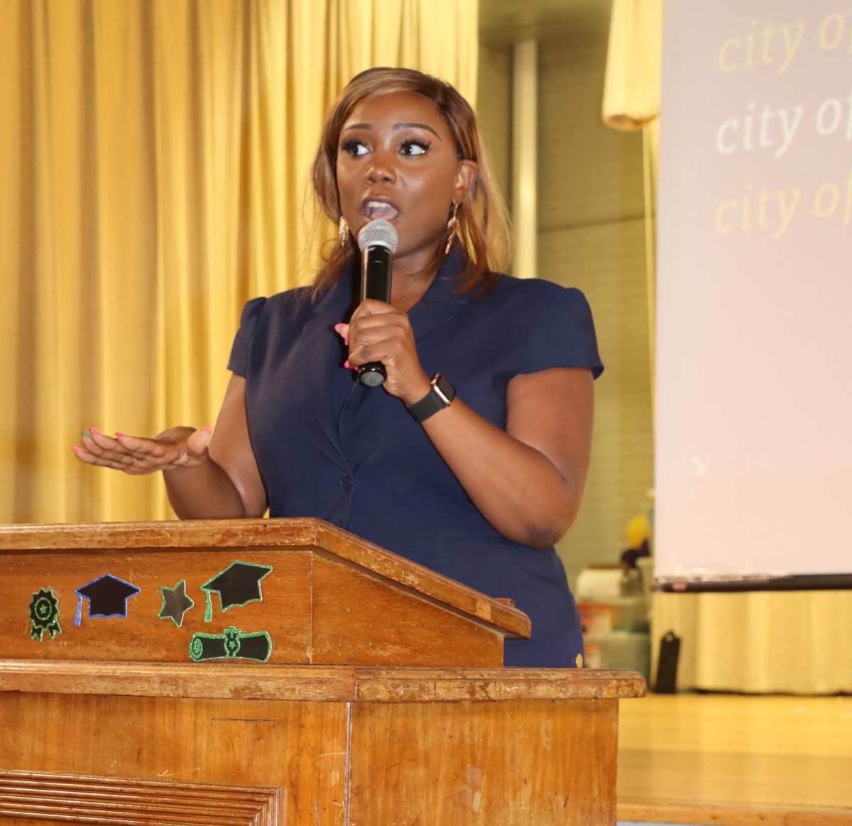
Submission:
[[[221,808],[203,788],[213,785],[267,796],[274,789],[275,826],[343,826],[347,703],[13,692],[0,695],[0,707],[3,771],[76,776],[66,779],[65,802],[53,806],[67,810],[90,797],[90,778],[112,778],[150,817],[161,810],[147,784],[174,781],[200,784],[184,789],[179,802],[202,823],[215,823],[210,812]],[[20,805],[42,806],[42,795],[34,790]],[[118,810],[95,822],[124,823]]]

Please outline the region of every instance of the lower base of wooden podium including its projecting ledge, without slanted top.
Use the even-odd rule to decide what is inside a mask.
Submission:
[[[185,826],[237,817],[241,798],[210,800],[223,786],[274,790],[277,819],[246,824],[612,826],[619,697],[643,689],[573,669],[6,660],[0,772],[43,788],[4,791],[0,823],[172,823],[167,799]],[[108,817],[98,783],[125,795]]]

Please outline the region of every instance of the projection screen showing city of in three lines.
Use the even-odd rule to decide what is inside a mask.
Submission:
[[[849,2],[664,3],[658,231],[655,575],[848,587]]]

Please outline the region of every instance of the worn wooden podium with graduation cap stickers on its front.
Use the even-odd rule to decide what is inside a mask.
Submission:
[[[639,674],[315,519],[0,527],[0,823],[615,823]]]

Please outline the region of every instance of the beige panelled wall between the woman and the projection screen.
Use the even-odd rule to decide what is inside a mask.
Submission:
[[[614,563],[653,485],[642,137],[607,129],[607,32],[538,43],[538,274],[579,287],[598,333],[594,453],[584,504],[559,551],[572,584]],[[510,195],[509,47],[483,45],[478,109]]]

